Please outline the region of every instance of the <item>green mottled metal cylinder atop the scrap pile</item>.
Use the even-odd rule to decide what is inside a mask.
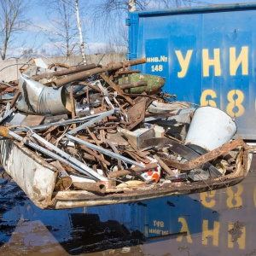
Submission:
[[[124,84],[122,76],[120,75],[118,77],[119,84]],[[125,93],[136,93],[140,94],[145,91],[147,94],[155,94],[160,91],[160,88],[163,87],[166,83],[166,78],[160,77],[160,76],[155,76],[155,75],[150,75],[146,73],[131,73],[131,84],[132,83],[137,83],[137,82],[142,82],[142,81],[147,81],[148,85],[147,86],[140,86],[136,88],[131,88],[130,90],[124,90]],[[125,84],[130,84],[128,82],[128,77],[125,77]]]

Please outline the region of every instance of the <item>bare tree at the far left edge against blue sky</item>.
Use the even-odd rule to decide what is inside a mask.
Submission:
[[[26,0],[0,0],[0,55],[2,60],[7,58],[10,45],[15,35],[24,31],[28,26]]]

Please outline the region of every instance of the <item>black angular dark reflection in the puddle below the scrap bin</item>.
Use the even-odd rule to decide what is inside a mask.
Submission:
[[[133,247],[143,241],[141,232],[130,231],[116,220],[102,222],[97,214],[71,213],[70,218],[73,227],[70,239],[61,244],[69,253]]]

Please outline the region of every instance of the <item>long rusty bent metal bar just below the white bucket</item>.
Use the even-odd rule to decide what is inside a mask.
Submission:
[[[202,166],[204,164],[206,165],[208,161],[213,160],[218,156],[222,154],[226,154],[227,152],[230,152],[234,148],[238,148],[243,145],[244,145],[244,141],[241,138],[239,138],[230,143],[224,144],[223,146],[216,148],[206,154],[203,154],[195,158],[194,160],[190,160],[189,162],[184,164],[174,160],[167,160],[167,159],[161,159],[161,160],[163,160],[167,166],[172,166],[173,168],[178,168],[183,171],[189,171],[189,170],[195,169],[195,167]],[[232,163],[234,164],[234,161],[232,161]]]

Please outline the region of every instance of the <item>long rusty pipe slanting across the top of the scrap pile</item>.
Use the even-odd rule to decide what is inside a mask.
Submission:
[[[125,66],[137,65],[137,64],[146,63],[146,59],[145,58],[137,59],[135,61],[127,61],[124,63],[125,63]],[[117,70],[121,67],[123,67],[123,63],[115,63],[113,65],[109,65],[108,67],[96,67],[96,68],[90,69],[90,71],[75,73],[73,75],[67,76],[66,78],[55,80],[54,82],[52,82],[52,85],[55,88],[59,88],[65,84],[71,83],[75,80],[87,79],[96,74],[100,74],[100,73],[104,73],[104,72],[111,72],[111,71]]]

